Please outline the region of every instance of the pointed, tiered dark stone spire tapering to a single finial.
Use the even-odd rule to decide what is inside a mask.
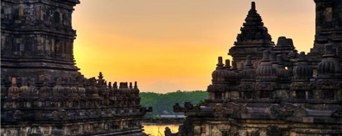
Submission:
[[[268,30],[264,27],[261,16],[255,10],[255,2],[252,2],[251,9],[245,19],[241,33],[237,35],[237,41],[228,55],[232,55],[238,68],[244,66],[246,57],[251,55],[252,64],[258,66],[264,50],[272,50],[274,42]],[[240,68],[241,69],[241,68]]]

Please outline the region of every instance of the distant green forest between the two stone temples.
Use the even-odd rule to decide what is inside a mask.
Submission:
[[[140,92],[141,105],[153,107],[153,112],[147,115],[166,115],[173,114],[174,103],[184,106],[184,102],[198,104],[208,97],[207,91],[175,91],[167,94],[158,94],[155,92]]]

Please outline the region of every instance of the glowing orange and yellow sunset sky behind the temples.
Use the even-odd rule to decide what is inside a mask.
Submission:
[[[138,81],[141,91],[206,90],[217,57],[229,58],[250,0],[81,0],[73,13],[80,72]],[[308,52],[313,0],[255,0],[273,41],[292,38]]]

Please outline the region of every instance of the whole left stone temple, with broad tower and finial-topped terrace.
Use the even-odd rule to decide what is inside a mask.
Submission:
[[[71,15],[79,0],[1,0],[1,136],[146,135],[137,83],[84,78]]]

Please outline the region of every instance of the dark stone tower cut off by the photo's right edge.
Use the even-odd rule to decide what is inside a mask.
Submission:
[[[308,54],[311,65],[317,65],[321,60],[325,45],[332,45],[337,49],[337,55],[342,56],[342,1],[314,1],[316,3],[316,35],[314,47]]]

